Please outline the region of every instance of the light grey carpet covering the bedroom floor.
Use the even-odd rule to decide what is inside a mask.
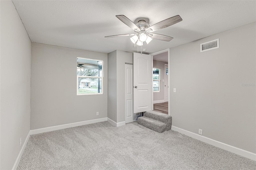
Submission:
[[[256,162],[176,131],[105,121],[31,135],[18,169],[255,170]]]

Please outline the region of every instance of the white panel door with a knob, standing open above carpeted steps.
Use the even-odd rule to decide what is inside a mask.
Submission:
[[[133,53],[134,113],[152,110],[152,56]]]

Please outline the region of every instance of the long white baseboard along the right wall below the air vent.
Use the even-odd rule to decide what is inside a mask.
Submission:
[[[222,143],[222,142],[216,141],[214,139],[210,139],[208,137],[204,137],[202,135],[192,133],[190,131],[181,129],[179,127],[172,126],[172,130],[183,133],[184,135],[187,135],[187,136],[192,137],[194,139],[197,139],[199,141],[208,143],[208,144],[213,145],[215,147],[219,147],[221,149],[228,150],[228,151],[233,152],[235,154],[238,154],[240,156],[244,156],[246,158],[249,158],[249,159],[252,159],[252,160],[256,161],[256,153],[249,152],[247,150],[243,150],[243,149],[240,149],[240,148],[237,148],[237,147],[233,147],[233,146],[228,145],[226,143]]]

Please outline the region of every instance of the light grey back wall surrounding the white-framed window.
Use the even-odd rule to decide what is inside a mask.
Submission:
[[[76,95],[77,57],[103,61],[103,94]],[[107,54],[32,43],[31,129],[107,117],[107,102]]]

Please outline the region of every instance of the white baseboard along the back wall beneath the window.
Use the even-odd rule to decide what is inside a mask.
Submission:
[[[104,118],[100,118],[100,119],[93,119],[93,120],[87,120],[87,121],[80,121],[80,122],[76,122],[76,123],[68,123],[68,124],[64,124],[64,125],[45,127],[45,128],[41,128],[41,129],[34,129],[34,130],[30,130],[30,135],[44,133],[44,132],[50,132],[50,131],[56,131],[56,130],[60,130],[60,129],[66,129],[69,127],[88,125],[88,124],[98,123],[98,122],[107,121],[107,120],[108,120],[107,117],[104,117]]]

